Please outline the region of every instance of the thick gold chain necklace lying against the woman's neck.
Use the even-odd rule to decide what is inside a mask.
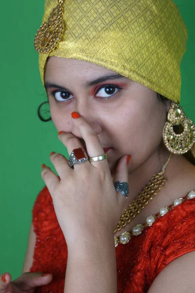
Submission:
[[[162,175],[165,172],[167,164],[171,159],[172,154],[170,154],[169,159],[163,165],[161,171],[157,175],[153,175],[150,182],[146,185],[143,191],[138,195],[138,197],[129,205],[128,209],[122,213],[120,221],[118,222],[116,231],[121,230],[125,227],[134,217],[142,210],[148,203],[152,201],[152,198],[159,192],[159,190],[163,187],[165,182],[167,181]]]

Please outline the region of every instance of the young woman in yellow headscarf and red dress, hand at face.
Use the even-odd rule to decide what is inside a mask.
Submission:
[[[45,3],[35,48],[69,158],[51,153],[59,176],[43,164],[24,273],[0,293],[194,292],[186,42],[172,0]]]

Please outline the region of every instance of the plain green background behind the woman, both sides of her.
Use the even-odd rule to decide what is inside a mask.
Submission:
[[[189,39],[181,64],[181,105],[195,121],[195,1],[175,0]],[[43,0],[2,1],[0,40],[0,274],[21,275],[34,201],[43,188],[41,165],[52,167],[51,151],[67,154],[52,122],[39,120],[46,101],[34,36]],[[54,171],[54,168],[52,167]]]

